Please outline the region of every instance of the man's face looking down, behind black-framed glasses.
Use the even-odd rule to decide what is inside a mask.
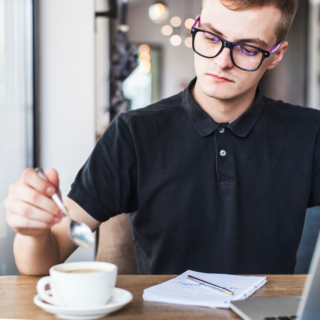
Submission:
[[[227,9],[220,0],[204,0],[197,27],[228,41],[244,42],[270,51],[278,44],[275,30],[280,17],[280,11],[273,7],[238,11]],[[286,43],[284,45],[286,47]],[[228,100],[254,94],[264,72],[277,64],[279,51],[282,50],[266,58],[254,72],[234,66],[228,48],[215,58],[204,58],[195,53],[196,85],[198,90],[201,88],[200,95]]]

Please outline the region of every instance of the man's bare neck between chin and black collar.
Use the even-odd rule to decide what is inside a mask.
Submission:
[[[220,100],[204,95],[197,83],[192,89],[192,96],[201,109],[217,123],[232,123],[254,103],[255,90],[230,100]]]

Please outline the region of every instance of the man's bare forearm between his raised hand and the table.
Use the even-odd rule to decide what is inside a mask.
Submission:
[[[58,244],[50,229],[37,237],[17,234],[13,252],[18,270],[25,275],[47,275],[51,266],[60,263]]]

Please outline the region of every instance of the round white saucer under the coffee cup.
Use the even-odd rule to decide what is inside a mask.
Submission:
[[[48,293],[50,290],[48,290]],[[117,311],[132,300],[132,294],[124,289],[115,288],[109,302],[102,306],[90,308],[73,308],[54,306],[42,301],[39,295],[35,295],[33,302],[49,313],[56,314],[58,317],[67,320],[91,320],[98,319],[108,315],[113,311]]]

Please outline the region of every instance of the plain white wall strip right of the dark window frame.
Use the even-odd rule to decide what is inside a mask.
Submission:
[[[39,1],[39,103],[44,169],[59,172],[64,198],[95,145],[94,0]],[[78,249],[74,260],[93,260]]]

